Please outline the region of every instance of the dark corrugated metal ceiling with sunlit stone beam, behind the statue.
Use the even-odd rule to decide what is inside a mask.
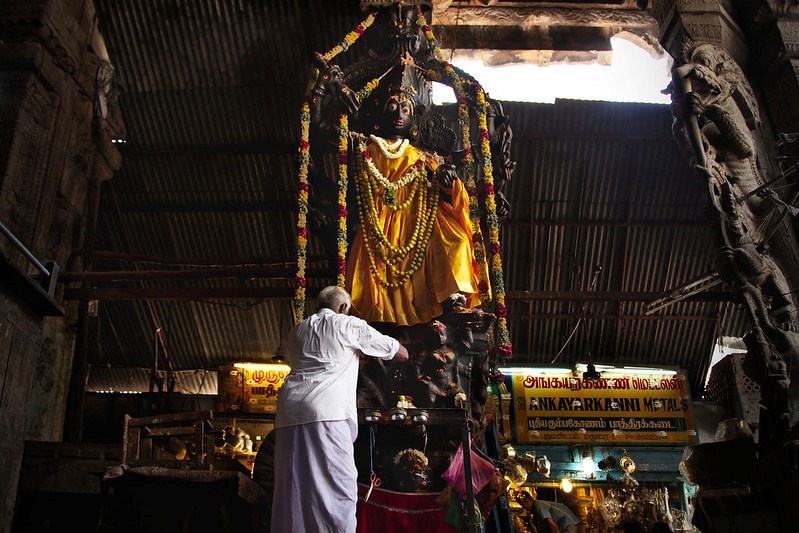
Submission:
[[[494,62],[601,60],[621,31],[655,42],[639,4],[436,2],[433,31],[442,48]],[[293,323],[310,58],[364,12],[357,0],[96,6],[126,143],[101,188],[93,274],[61,278],[67,298],[98,303],[88,390],[146,388],[157,367],[178,372],[176,390],[204,391],[203,370],[269,360]],[[698,396],[716,339],[746,321],[716,284],[716,224],[668,107],[503,105],[517,162],[501,229],[509,364],[679,367]],[[309,293],[335,282],[313,235],[309,258]]]

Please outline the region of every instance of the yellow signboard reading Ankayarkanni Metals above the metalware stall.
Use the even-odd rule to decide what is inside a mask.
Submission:
[[[512,381],[520,443],[697,442],[682,372],[625,368],[604,371],[594,380],[566,369],[505,372]]]

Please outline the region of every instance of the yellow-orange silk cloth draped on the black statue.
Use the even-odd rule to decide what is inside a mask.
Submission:
[[[413,146],[408,146],[403,155],[396,159],[385,157],[374,143],[370,143],[367,150],[375,166],[391,183],[402,179],[420,158],[426,158],[424,152]],[[356,157],[360,158],[361,155],[357,154]],[[426,159],[427,166],[437,167],[432,157]],[[432,171],[428,173],[428,179],[436,183]],[[410,192],[411,185],[398,189],[396,204],[402,204]],[[374,187],[373,194],[376,218],[388,242],[397,247],[406,246],[419,214],[416,199],[409,207],[394,211],[385,205],[382,186]],[[451,202],[448,196],[451,196]],[[346,286],[352,296],[353,314],[368,322],[412,326],[441,315],[441,303],[456,292],[466,296],[466,307],[480,305],[480,267],[474,258],[469,194],[460,180],[454,180],[451,189],[442,189],[424,262],[401,286],[385,288],[372,276],[364,244],[364,229],[362,223],[347,257]],[[378,254],[373,255],[380,276],[389,283],[396,281],[390,270],[387,273],[386,265]],[[398,270],[407,270],[412,260],[413,253],[408,254],[398,264]],[[484,279],[488,283],[487,267]]]

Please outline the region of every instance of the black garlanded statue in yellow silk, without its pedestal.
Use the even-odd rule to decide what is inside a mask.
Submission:
[[[488,256],[498,254],[495,228],[509,213],[504,188],[515,168],[513,135],[502,106],[437,57],[423,16],[430,3],[380,5],[371,21],[348,35],[346,46],[334,49],[354,49],[362,35],[365,53],[353,54],[344,67],[332,61],[333,50],[315,56],[310,152],[314,161],[324,157],[320,147],[341,154],[342,132],[349,135],[346,283],[355,312],[372,323],[413,326],[441,314],[453,292],[466,295],[470,308],[496,296],[490,278],[501,273],[488,265],[499,262]],[[432,105],[432,81],[457,87],[471,110],[468,121],[445,117]],[[456,139],[453,123],[462,138]],[[341,209],[334,201],[340,191],[325,168],[320,163],[309,171],[308,225],[324,234],[328,255],[341,266],[341,225],[335,224]],[[467,193],[472,179],[480,198]],[[502,353],[509,355],[502,328]]]

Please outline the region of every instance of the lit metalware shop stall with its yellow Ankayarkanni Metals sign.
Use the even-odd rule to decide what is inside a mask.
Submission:
[[[581,531],[694,531],[692,486],[681,477],[697,444],[693,402],[679,370],[590,365],[503,368],[493,390],[517,533],[521,491],[566,504]],[[659,525],[660,524],[660,525]]]

